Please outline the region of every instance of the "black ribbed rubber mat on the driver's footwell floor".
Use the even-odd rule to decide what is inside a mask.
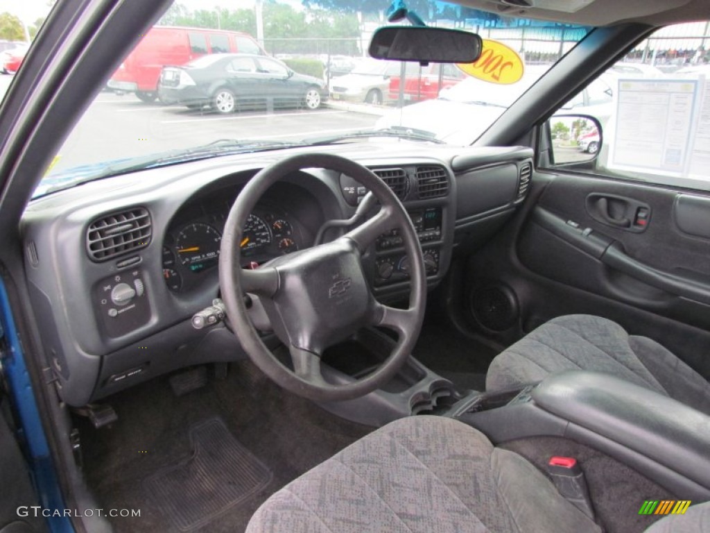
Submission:
[[[143,488],[180,531],[204,526],[271,481],[261,461],[232,436],[222,419],[190,429],[192,456],[158,470]]]

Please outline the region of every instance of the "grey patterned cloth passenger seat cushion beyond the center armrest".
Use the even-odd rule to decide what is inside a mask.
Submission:
[[[710,414],[710,383],[669,350],[591,315],[554,318],[496,355],[486,389],[539,382],[562,370],[608,372]]]

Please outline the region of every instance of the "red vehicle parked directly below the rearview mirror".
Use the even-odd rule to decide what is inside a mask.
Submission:
[[[403,90],[405,102],[421,102],[439,96],[439,92],[452,87],[463,80],[466,75],[456,65],[430,63],[422,66],[417,63],[405,63],[406,78]],[[390,77],[389,99],[400,97],[400,73]]]

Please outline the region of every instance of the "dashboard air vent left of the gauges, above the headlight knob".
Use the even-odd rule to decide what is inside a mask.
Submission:
[[[87,230],[87,253],[94,261],[107,261],[145,248],[150,240],[151,215],[145,208],[133,208],[94,220]]]

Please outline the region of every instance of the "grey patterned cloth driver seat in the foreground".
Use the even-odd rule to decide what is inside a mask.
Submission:
[[[710,504],[647,532],[701,532]],[[272,495],[247,533],[599,532],[522,456],[440,416],[383,426]]]

